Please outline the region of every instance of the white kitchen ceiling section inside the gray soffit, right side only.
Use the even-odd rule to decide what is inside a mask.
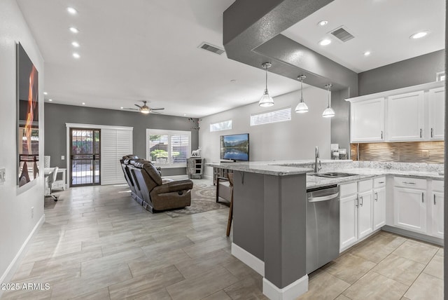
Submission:
[[[321,20],[328,24],[319,26]],[[330,34],[342,26],[354,39],[344,43]],[[409,39],[422,30],[430,33]],[[443,49],[445,0],[335,0],[283,35],[359,73]],[[318,45],[325,38],[332,43]]]

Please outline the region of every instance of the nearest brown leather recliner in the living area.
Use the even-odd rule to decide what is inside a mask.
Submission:
[[[160,172],[148,161],[136,161],[128,168],[137,179],[146,210],[155,212],[191,205],[193,181],[190,179],[163,183]]]

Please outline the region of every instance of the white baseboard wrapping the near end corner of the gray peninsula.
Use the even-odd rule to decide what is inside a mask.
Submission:
[[[295,280],[295,282],[279,289],[272,282],[263,278],[263,294],[271,300],[293,300],[298,296],[308,291],[308,275],[305,274],[302,278]]]

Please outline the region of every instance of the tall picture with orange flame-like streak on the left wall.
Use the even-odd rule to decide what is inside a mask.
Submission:
[[[39,175],[38,71],[23,46],[17,44],[18,186]]]

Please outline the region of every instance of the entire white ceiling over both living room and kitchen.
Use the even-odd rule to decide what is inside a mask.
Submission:
[[[46,101],[120,109],[148,100],[150,107],[165,107],[163,114],[201,117],[262,95],[262,69],[197,48],[203,41],[223,47],[223,12],[235,0],[17,1],[45,60]],[[68,6],[78,14],[69,15]],[[323,17],[329,23],[319,28],[316,22]],[[339,25],[356,39],[325,49],[317,45]],[[71,26],[80,32],[72,34]],[[418,29],[431,33],[410,41]],[[381,37],[384,32],[387,39]],[[285,34],[363,71],[444,48],[444,1],[335,0]],[[80,48],[74,49],[72,41]],[[372,55],[363,57],[365,50]],[[75,51],[78,60],[72,57]],[[300,83],[269,73],[268,86],[276,96],[297,90]]]

